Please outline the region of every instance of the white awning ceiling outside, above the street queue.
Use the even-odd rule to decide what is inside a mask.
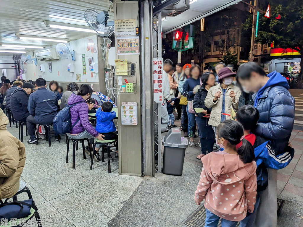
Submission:
[[[191,24],[194,21],[207,17],[241,1],[242,0],[197,0],[197,2],[193,2],[185,12],[175,17],[169,17],[167,21],[162,21],[162,31],[167,34],[177,28]]]

